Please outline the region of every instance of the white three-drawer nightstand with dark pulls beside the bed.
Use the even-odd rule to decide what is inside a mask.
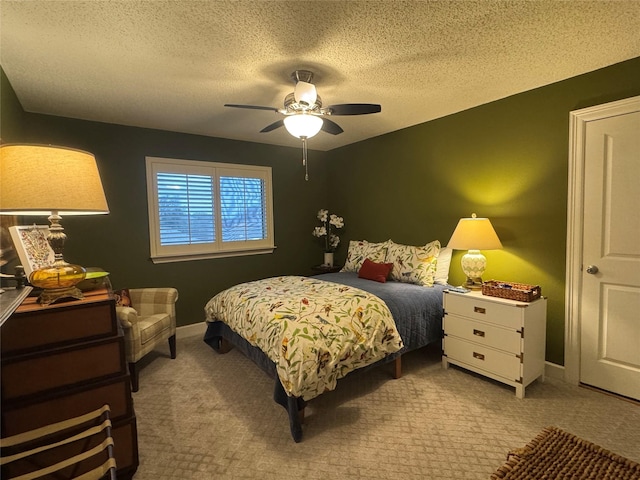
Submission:
[[[442,365],[458,365],[516,388],[544,381],[547,299],[518,302],[445,291]]]

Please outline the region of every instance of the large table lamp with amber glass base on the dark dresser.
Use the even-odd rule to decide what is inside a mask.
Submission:
[[[67,236],[60,220],[66,215],[109,213],[94,156],[49,145],[1,145],[0,213],[49,218],[47,240],[54,262],[29,276],[34,287],[43,289],[39,302],[47,305],[65,297],[82,298],[76,285],[86,271],[64,260]]]

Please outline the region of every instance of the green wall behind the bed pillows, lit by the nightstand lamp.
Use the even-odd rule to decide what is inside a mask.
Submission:
[[[333,150],[331,210],[350,239],[406,244],[445,245],[461,217],[490,218],[504,249],[483,252],[484,279],[542,287],[547,360],[564,364],[569,112],[639,94],[636,58]]]

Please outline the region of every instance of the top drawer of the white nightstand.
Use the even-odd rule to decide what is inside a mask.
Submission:
[[[444,295],[446,313],[484,320],[518,330],[522,324],[521,307],[501,304],[478,296]]]

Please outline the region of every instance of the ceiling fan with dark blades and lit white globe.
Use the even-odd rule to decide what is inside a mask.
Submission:
[[[313,72],[309,70],[296,70],[291,74],[295,83],[295,89],[284,98],[284,108],[263,107],[260,105],[239,105],[226,103],[225,107],[247,108],[250,110],[269,110],[284,118],[267,125],[260,133],[271,132],[284,126],[287,131],[296,138],[302,140],[302,163],[307,167],[307,139],[316,135],[320,130],[338,135],[344,130],[327,117],[332,115],[367,115],[378,113],[382,107],[374,103],[341,103],[337,105],[322,106],[322,99],[316,91],[316,86],[311,83]],[[309,175],[305,172],[305,179]]]

